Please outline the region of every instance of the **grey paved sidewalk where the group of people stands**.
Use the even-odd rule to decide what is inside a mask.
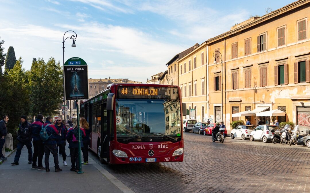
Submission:
[[[90,164],[82,165],[84,174],[77,174],[70,171],[70,157],[67,157],[68,166],[63,166],[62,157],[59,156],[63,171],[55,172],[53,156],[50,155],[51,171],[45,172],[31,170],[26,146],[21,152],[19,165],[12,166],[15,153],[0,165],[1,192],[122,192],[92,164],[92,160]],[[66,153],[69,153],[69,149],[66,149]]]

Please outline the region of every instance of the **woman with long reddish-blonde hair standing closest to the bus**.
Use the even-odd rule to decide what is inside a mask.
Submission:
[[[88,146],[91,143],[91,140],[90,140],[91,128],[89,128],[89,125],[86,119],[84,118],[80,120],[80,127],[85,132],[85,137],[83,137],[83,149],[82,149],[84,161],[82,162],[82,164],[87,165],[88,164]]]

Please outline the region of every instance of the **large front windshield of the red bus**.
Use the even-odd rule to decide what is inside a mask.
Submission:
[[[166,141],[181,136],[178,99],[116,99],[117,138],[158,136]]]

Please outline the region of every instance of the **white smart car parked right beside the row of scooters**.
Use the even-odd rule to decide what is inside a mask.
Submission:
[[[279,130],[275,125],[259,125],[250,134],[250,141],[262,140],[264,143],[271,141],[272,132]]]

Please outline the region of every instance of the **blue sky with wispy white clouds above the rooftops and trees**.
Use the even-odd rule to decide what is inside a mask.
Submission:
[[[83,58],[89,78],[146,82],[164,72],[175,54],[250,15],[264,15],[267,7],[277,10],[291,2],[0,0],[0,37],[5,50],[13,46],[29,69],[32,58],[38,57],[55,57],[62,64],[63,35],[73,30],[77,47],[66,40],[65,60]]]

